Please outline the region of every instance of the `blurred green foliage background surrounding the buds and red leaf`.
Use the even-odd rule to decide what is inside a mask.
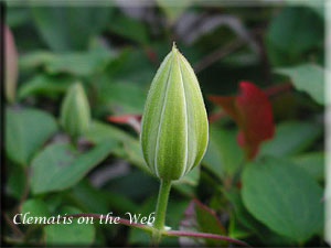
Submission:
[[[158,181],[145,164],[139,134],[129,125],[107,122],[107,116],[142,114],[152,77],[175,41],[196,72],[210,116],[222,109],[206,96],[235,95],[239,80],[263,89],[291,87],[269,96],[276,132],[253,161],[245,160],[228,116],[211,123],[202,164],[174,184],[167,225],[252,246],[324,246],[324,14],[311,2],[252,8],[189,0],[88,8],[8,2],[19,73],[6,80],[14,100],[4,114],[4,242],[149,245],[147,234],[121,225],[75,220],[14,228],[11,219],[19,212],[127,217],[126,212],[154,211]],[[76,82],[93,121],[72,142],[60,126],[60,109]],[[229,244],[167,237],[161,245]]]

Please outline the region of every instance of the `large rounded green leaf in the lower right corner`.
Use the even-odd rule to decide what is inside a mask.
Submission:
[[[267,157],[243,173],[242,196],[247,209],[279,235],[298,244],[323,225],[323,190],[302,169]]]

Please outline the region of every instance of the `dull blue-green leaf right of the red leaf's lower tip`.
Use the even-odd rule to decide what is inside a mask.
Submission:
[[[261,144],[259,155],[292,155],[305,151],[322,133],[322,127],[305,121],[288,121],[276,127],[275,137]]]

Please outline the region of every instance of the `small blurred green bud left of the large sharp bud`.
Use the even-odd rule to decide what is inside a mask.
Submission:
[[[61,106],[60,121],[64,130],[73,138],[86,131],[90,123],[90,110],[84,88],[79,83],[73,84]]]

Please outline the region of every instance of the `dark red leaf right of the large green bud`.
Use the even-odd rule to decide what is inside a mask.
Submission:
[[[239,94],[235,97],[211,96],[238,125],[238,144],[252,160],[258,152],[260,142],[271,139],[275,125],[270,101],[266,94],[253,83],[241,82]]]

